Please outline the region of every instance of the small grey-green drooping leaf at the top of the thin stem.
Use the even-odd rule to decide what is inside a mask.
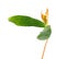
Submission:
[[[45,40],[48,39],[48,37],[51,36],[52,30],[51,30],[51,25],[45,26],[45,28],[43,30],[43,32],[40,33],[40,35],[37,36],[37,38],[40,40]]]

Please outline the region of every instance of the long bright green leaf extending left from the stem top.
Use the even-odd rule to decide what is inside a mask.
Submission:
[[[38,21],[37,19],[33,19],[26,15],[14,15],[9,17],[9,21],[18,26],[36,26],[36,27],[45,26],[44,23]]]

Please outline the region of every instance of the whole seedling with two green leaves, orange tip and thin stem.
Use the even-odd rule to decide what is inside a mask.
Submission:
[[[48,9],[46,9],[45,14],[42,13],[41,16],[42,16],[43,22],[37,20],[37,19],[26,16],[26,15],[14,15],[14,16],[9,17],[9,21],[14,23],[18,26],[35,26],[35,27],[44,28],[37,35],[37,39],[46,40],[44,49],[43,49],[43,54],[42,54],[42,59],[43,59],[46,44],[47,44],[48,38],[51,36],[51,33],[52,33],[51,25],[48,25]]]

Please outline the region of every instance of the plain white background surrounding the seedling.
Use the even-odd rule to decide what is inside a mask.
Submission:
[[[41,59],[45,40],[36,36],[43,28],[19,27],[8,21],[11,15],[29,15],[41,20],[41,11],[50,9],[50,37],[45,59],[66,59],[65,0],[0,0],[0,59]]]

